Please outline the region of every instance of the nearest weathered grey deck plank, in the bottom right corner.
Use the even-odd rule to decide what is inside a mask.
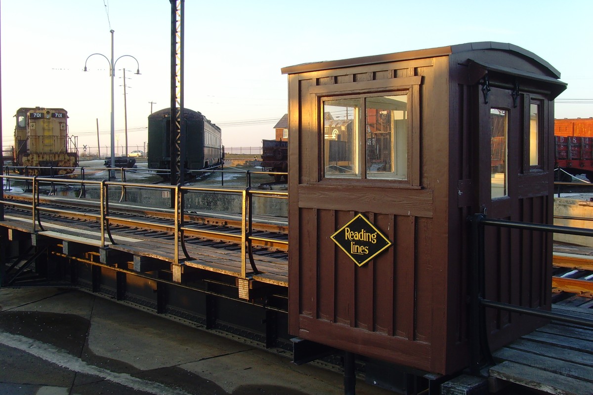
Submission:
[[[574,378],[546,372],[530,366],[517,364],[516,362],[502,362],[490,368],[490,375],[550,394],[593,394],[593,384],[591,383],[584,383]]]

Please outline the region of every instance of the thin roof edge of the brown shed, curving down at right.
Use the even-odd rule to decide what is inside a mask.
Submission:
[[[497,43],[495,41],[482,41],[482,42],[477,42],[477,43],[456,44],[456,45],[452,45],[452,46],[448,46],[448,47],[437,47],[437,48],[420,49],[420,50],[414,50],[414,51],[387,53],[387,54],[382,54],[382,55],[353,57],[351,59],[328,60],[328,61],[324,61],[324,62],[313,62],[313,63],[302,63],[301,65],[288,66],[288,67],[282,68],[281,70],[282,70],[283,74],[297,74],[297,73],[313,72],[313,71],[318,71],[318,70],[338,69],[338,68],[346,68],[346,67],[353,67],[353,66],[370,65],[370,64],[374,64],[374,63],[395,62],[398,60],[422,59],[422,58],[426,58],[426,57],[436,57],[436,56],[449,56],[451,54],[460,53],[460,52],[468,52],[468,51],[474,51],[474,50],[485,50],[485,49],[506,50],[506,51],[521,54],[522,56],[525,56],[525,57],[529,57],[530,59],[535,60],[535,62],[538,62],[542,66],[547,68],[555,78],[560,78],[560,72],[558,70],[556,70],[553,66],[550,65],[550,63],[546,62],[546,60],[542,59],[540,56],[537,56],[533,52],[522,49],[521,47],[518,47],[514,44]]]

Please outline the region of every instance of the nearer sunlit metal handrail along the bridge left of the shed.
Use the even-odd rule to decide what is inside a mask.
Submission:
[[[132,182],[117,182],[117,181],[93,181],[85,179],[62,179],[62,178],[47,178],[42,176],[34,176],[33,178],[22,175],[4,175],[7,179],[24,179],[26,181],[32,181],[33,191],[31,204],[17,203],[13,201],[7,201],[5,198],[0,200],[1,205],[9,204],[14,207],[30,208],[32,218],[32,229],[33,233],[37,233],[38,229],[43,232],[42,217],[40,213],[42,211],[49,213],[60,213],[65,212],[64,210],[58,210],[52,207],[44,207],[40,204],[40,185],[45,182],[56,183],[56,184],[79,184],[82,187],[86,185],[95,185],[100,188],[100,206],[99,214],[90,213],[77,213],[76,211],[68,211],[70,213],[76,213],[97,219],[101,223],[101,248],[107,247],[106,235],[109,237],[111,245],[115,245],[116,242],[111,235],[110,221],[117,220],[117,216],[113,216],[109,211],[109,188],[110,187],[121,187],[124,188],[141,188],[146,190],[168,190],[174,193],[175,207],[174,207],[174,223],[173,224],[160,224],[160,226],[171,229],[174,233],[174,264],[183,264],[183,261],[191,260],[192,257],[187,252],[185,245],[184,232],[192,230],[189,227],[184,226],[185,207],[183,196],[187,192],[203,192],[203,193],[224,193],[224,194],[235,194],[241,195],[241,278],[248,278],[250,275],[257,274],[258,270],[253,258],[253,241],[269,241],[288,245],[288,241],[275,240],[262,236],[253,236],[251,230],[253,229],[253,198],[254,197],[267,197],[267,198],[280,198],[283,200],[288,199],[288,192],[282,191],[254,191],[250,187],[246,187],[243,190],[231,189],[231,188],[206,188],[206,187],[190,187],[181,185],[162,185],[162,184],[139,184]],[[53,187],[52,187],[53,188]],[[146,221],[138,219],[127,219],[130,223],[137,223],[139,225],[146,225]],[[225,232],[216,232],[212,230],[204,230],[203,233],[211,235],[228,235]],[[181,249],[179,248],[181,246]],[[181,255],[183,253],[183,255]],[[247,269],[247,261],[251,266],[251,271]]]

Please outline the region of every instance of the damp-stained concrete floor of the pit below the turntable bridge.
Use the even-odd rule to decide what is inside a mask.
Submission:
[[[82,291],[4,288],[0,394],[343,394],[343,377]]]

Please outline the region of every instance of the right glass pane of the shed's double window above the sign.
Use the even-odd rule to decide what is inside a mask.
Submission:
[[[367,178],[407,179],[407,95],[370,97],[365,104]]]

